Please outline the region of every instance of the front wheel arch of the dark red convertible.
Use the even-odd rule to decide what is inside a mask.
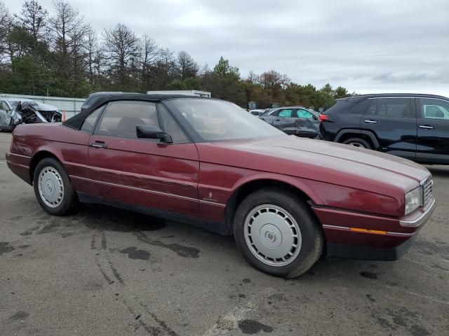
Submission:
[[[293,181],[295,180],[295,181]],[[301,200],[308,204],[322,204],[321,197],[316,195],[311,188],[305,183],[301,183],[300,179],[293,179],[286,176],[285,179],[273,178],[272,176],[252,179],[250,181],[244,181],[234,190],[231,197],[226,202],[225,207],[225,225],[228,232],[232,235],[232,224],[234,221],[234,215],[236,213],[239,204],[251,193],[257,190],[267,187],[278,187],[293,191],[295,195],[300,197]],[[313,211],[312,211],[313,212]]]

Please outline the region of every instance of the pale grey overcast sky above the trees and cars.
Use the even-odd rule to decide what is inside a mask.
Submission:
[[[274,69],[317,87],[449,96],[449,0],[68,2],[99,32],[121,22],[200,65],[223,56],[242,76]]]

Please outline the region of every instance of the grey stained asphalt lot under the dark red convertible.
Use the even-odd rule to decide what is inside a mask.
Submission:
[[[395,262],[326,260],[283,280],[232,237],[109,207],[52,217],[6,166],[0,133],[0,335],[449,335],[449,167]]]

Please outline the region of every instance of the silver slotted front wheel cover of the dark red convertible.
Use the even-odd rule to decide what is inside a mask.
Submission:
[[[251,210],[243,230],[251,253],[264,264],[286,266],[301,251],[301,232],[295,218],[276,205],[263,204]]]

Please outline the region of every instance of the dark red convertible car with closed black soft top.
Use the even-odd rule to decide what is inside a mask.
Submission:
[[[80,201],[200,225],[285,277],[323,253],[396,260],[435,207],[420,165],[288,136],[216,99],[102,97],[62,125],[19,125],[6,159],[49,214]]]

